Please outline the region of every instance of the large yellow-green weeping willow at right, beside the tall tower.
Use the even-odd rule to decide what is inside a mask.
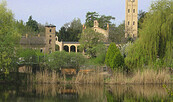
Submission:
[[[129,67],[141,67],[158,60],[170,66],[173,63],[173,1],[154,2],[144,18],[140,37],[130,46],[125,59]]]

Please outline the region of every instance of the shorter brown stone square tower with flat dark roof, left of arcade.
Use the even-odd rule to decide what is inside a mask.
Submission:
[[[56,26],[55,25],[46,25],[45,26],[45,36],[46,36],[46,53],[52,53],[55,51],[55,34],[56,34]]]

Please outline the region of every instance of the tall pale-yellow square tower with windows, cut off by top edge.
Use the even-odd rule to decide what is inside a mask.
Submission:
[[[138,36],[138,0],[126,0],[125,38]]]

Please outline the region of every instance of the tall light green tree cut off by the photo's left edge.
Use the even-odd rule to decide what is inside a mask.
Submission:
[[[15,51],[20,39],[12,12],[6,2],[0,4],[0,70],[8,72],[13,67]]]

